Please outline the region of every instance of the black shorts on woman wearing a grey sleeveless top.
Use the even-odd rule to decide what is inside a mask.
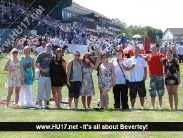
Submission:
[[[71,84],[71,86],[68,87],[69,88],[69,98],[74,97],[75,99],[78,99],[82,83],[80,81],[75,81],[75,82],[70,81],[70,84]]]

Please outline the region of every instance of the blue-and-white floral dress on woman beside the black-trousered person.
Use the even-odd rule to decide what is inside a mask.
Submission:
[[[100,65],[101,74],[99,78],[99,88],[103,91],[109,91],[112,86],[112,69],[110,65],[106,68],[103,64]]]

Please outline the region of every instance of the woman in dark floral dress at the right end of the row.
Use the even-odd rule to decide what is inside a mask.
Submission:
[[[177,110],[178,106],[177,88],[178,85],[180,84],[179,64],[178,61],[173,58],[171,50],[168,50],[166,52],[166,58],[167,59],[164,67],[165,85],[168,90],[170,110],[173,109],[173,97],[174,97],[175,110]]]

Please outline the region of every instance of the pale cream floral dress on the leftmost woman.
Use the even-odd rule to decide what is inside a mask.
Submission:
[[[20,62],[14,63],[12,59],[10,59],[9,68],[15,68],[15,71],[8,72],[5,87],[21,87]]]

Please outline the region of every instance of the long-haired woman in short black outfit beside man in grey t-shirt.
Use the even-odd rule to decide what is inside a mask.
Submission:
[[[57,48],[50,63],[50,76],[52,94],[55,100],[55,108],[60,109],[62,102],[62,87],[66,84],[66,61],[62,58],[62,49]]]

